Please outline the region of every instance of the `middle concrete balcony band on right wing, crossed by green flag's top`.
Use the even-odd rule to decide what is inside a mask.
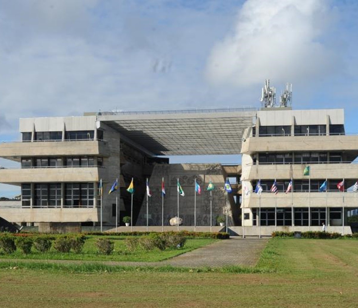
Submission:
[[[325,179],[334,175],[335,179],[356,179],[358,174],[357,163],[312,163],[310,166],[311,179]],[[246,180],[271,180],[271,179],[305,179],[303,175],[306,165],[285,164],[285,165],[247,165],[243,169],[243,178]]]

